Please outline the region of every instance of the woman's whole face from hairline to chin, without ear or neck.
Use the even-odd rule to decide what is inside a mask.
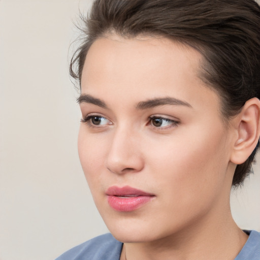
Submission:
[[[79,156],[120,241],[191,230],[229,204],[232,134],[219,96],[198,77],[200,62],[196,50],[148,37],[110,36],[88,51]]]

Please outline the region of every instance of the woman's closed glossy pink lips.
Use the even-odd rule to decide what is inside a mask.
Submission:
[[[108,204],[116,211],[133,211],[152,200],[153,194],[129,186],[111,186],[107,189]]]

